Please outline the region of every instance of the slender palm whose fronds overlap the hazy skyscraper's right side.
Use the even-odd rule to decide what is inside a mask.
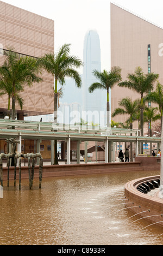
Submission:
[[[103,89],[107,92],[107,126],[110,125],[110,103],[109,103],[109,89],[112,89],[114,85],[122,80],[121,77],[121,68],[120,67],[112,67],[110,72],[103,70],[103,72],[99,72],[98,70],[93,70],[93,75],[99,80],[99,82],[94,82],[89,87],[89,92],[92,93],[96,89]]]

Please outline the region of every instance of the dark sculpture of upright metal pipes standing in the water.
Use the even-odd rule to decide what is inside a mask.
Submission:
[[[16,186],[16,165],[18,159],[18,169],[19,169],[19,189],[21,189],[21,159],[28,158],[28,174],[29,174],[29,188],[32,189],[33,187],[33,179],[34,179],[34,168],[35,168],[35,158],[39,157],[39,188],[41,188],[42,183],[42,170],[43,170],[43,158],[41,153],[16,153],[16,145],[20,144],[20,141],[15,139],[7,139],[6,142],[11,144],[11,153],[9,154],[0,154],[0,182],[1,186],[3,187],[3,158],[8,159],[8,187],[9,187],[9,172],[10,172],[10,159],[12,163],[14,163],[14,186]],[[32,168],[31,168],[31,160],[32,160]]]

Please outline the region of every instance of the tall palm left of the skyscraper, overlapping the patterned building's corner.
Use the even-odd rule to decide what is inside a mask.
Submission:
[[[76,56],[70,55],[70,45],[64,44],[59,51],[47,53],[39,59],[39,63],[43,68],[54,76],[54,123],[57,124],[58,112],[58,82],[61,86],[65,85],[66,78],[73,78],[78,88],[82,87],[82,79],[76,70],[83,66],[83,62]],[[58,164],[57,159],[57,140],[54,142],[55,160],[54,164]]]

